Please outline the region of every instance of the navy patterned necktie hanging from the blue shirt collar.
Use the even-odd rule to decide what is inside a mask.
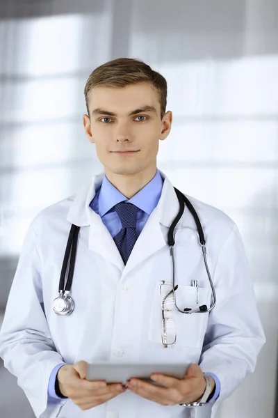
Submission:
[[[138,208],[132,203],[124,202],[117,203],[114,208],[122,222],[122,229],[114,237],[114,241],[120,251],[124,264],[126,264],[136,243],[136,215]]]

